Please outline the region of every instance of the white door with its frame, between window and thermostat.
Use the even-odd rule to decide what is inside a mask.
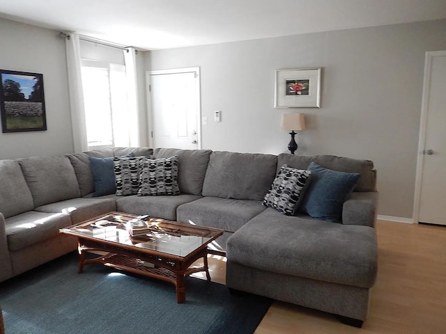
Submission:
[[[199,69],[152,71],[150,96],[154,148],[201,148]]]

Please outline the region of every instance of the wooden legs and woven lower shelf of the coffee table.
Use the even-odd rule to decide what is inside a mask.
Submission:
[[[185,278],[190,276],[192,273],[198,273],[200,271],[206,272],[207,280],[210,280],[210,274],[208,269],[208,252],[207,248],[202,250],[196,256],[193,257],[192,263],[203,257],[203,267],[189,267],[186,269],[175,269],[178,267],[178,263],[174,261],[163,261],[164,265],[167,267],[160,267],[157,264],[152,264],[144,260],[140,260],[136,257],[120,254],[120,253],[107,253],[106,255],[100,255],[93,259],[85,258],[85,251],[101,250],[98,248],[82,248],[79,247],[79,273],[84,271],[84,264],[99,263],[107,267],[116,268],[123,271],[128,271],[130,273],[136,273],[142,276],[148,276],[151,278],[156,278],[158,280],[164,280],[169,282],[176,287],[176,301],[177,303],[185,303],[186,301],[186,288],[185,288]],[[101,250],[103,251],[103,250]],[[162,259],[159,259],[162,260]],[[190,263],[190,264],[192,264]],[[189,264],[189,265],[190,265]],[[169,268],[169,265],[172,268]]]

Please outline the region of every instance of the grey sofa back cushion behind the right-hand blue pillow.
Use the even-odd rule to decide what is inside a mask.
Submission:
[[[359,173],[354,191],[376,191],[376,170],[370,160],[336,157],[334,155],[315,155],[313,157],[299,157],[297,155],[281,153],[277,157],[277,170],[284,164],[292,168],[307,169],[309,164],[316,164],[346,173]]]

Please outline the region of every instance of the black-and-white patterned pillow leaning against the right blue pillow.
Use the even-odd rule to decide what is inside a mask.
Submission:
[[[283,165],[263,199],[262,205],[277,209],[286,216],[292,216],[299,207],[312,172]]]

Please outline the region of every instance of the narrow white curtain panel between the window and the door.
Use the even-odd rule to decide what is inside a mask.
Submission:
[[[130,146],[139,147],[139,107],[137,92],[136,49],[128,47],[124,51],[125,74],[127,78],[128,124]]]

